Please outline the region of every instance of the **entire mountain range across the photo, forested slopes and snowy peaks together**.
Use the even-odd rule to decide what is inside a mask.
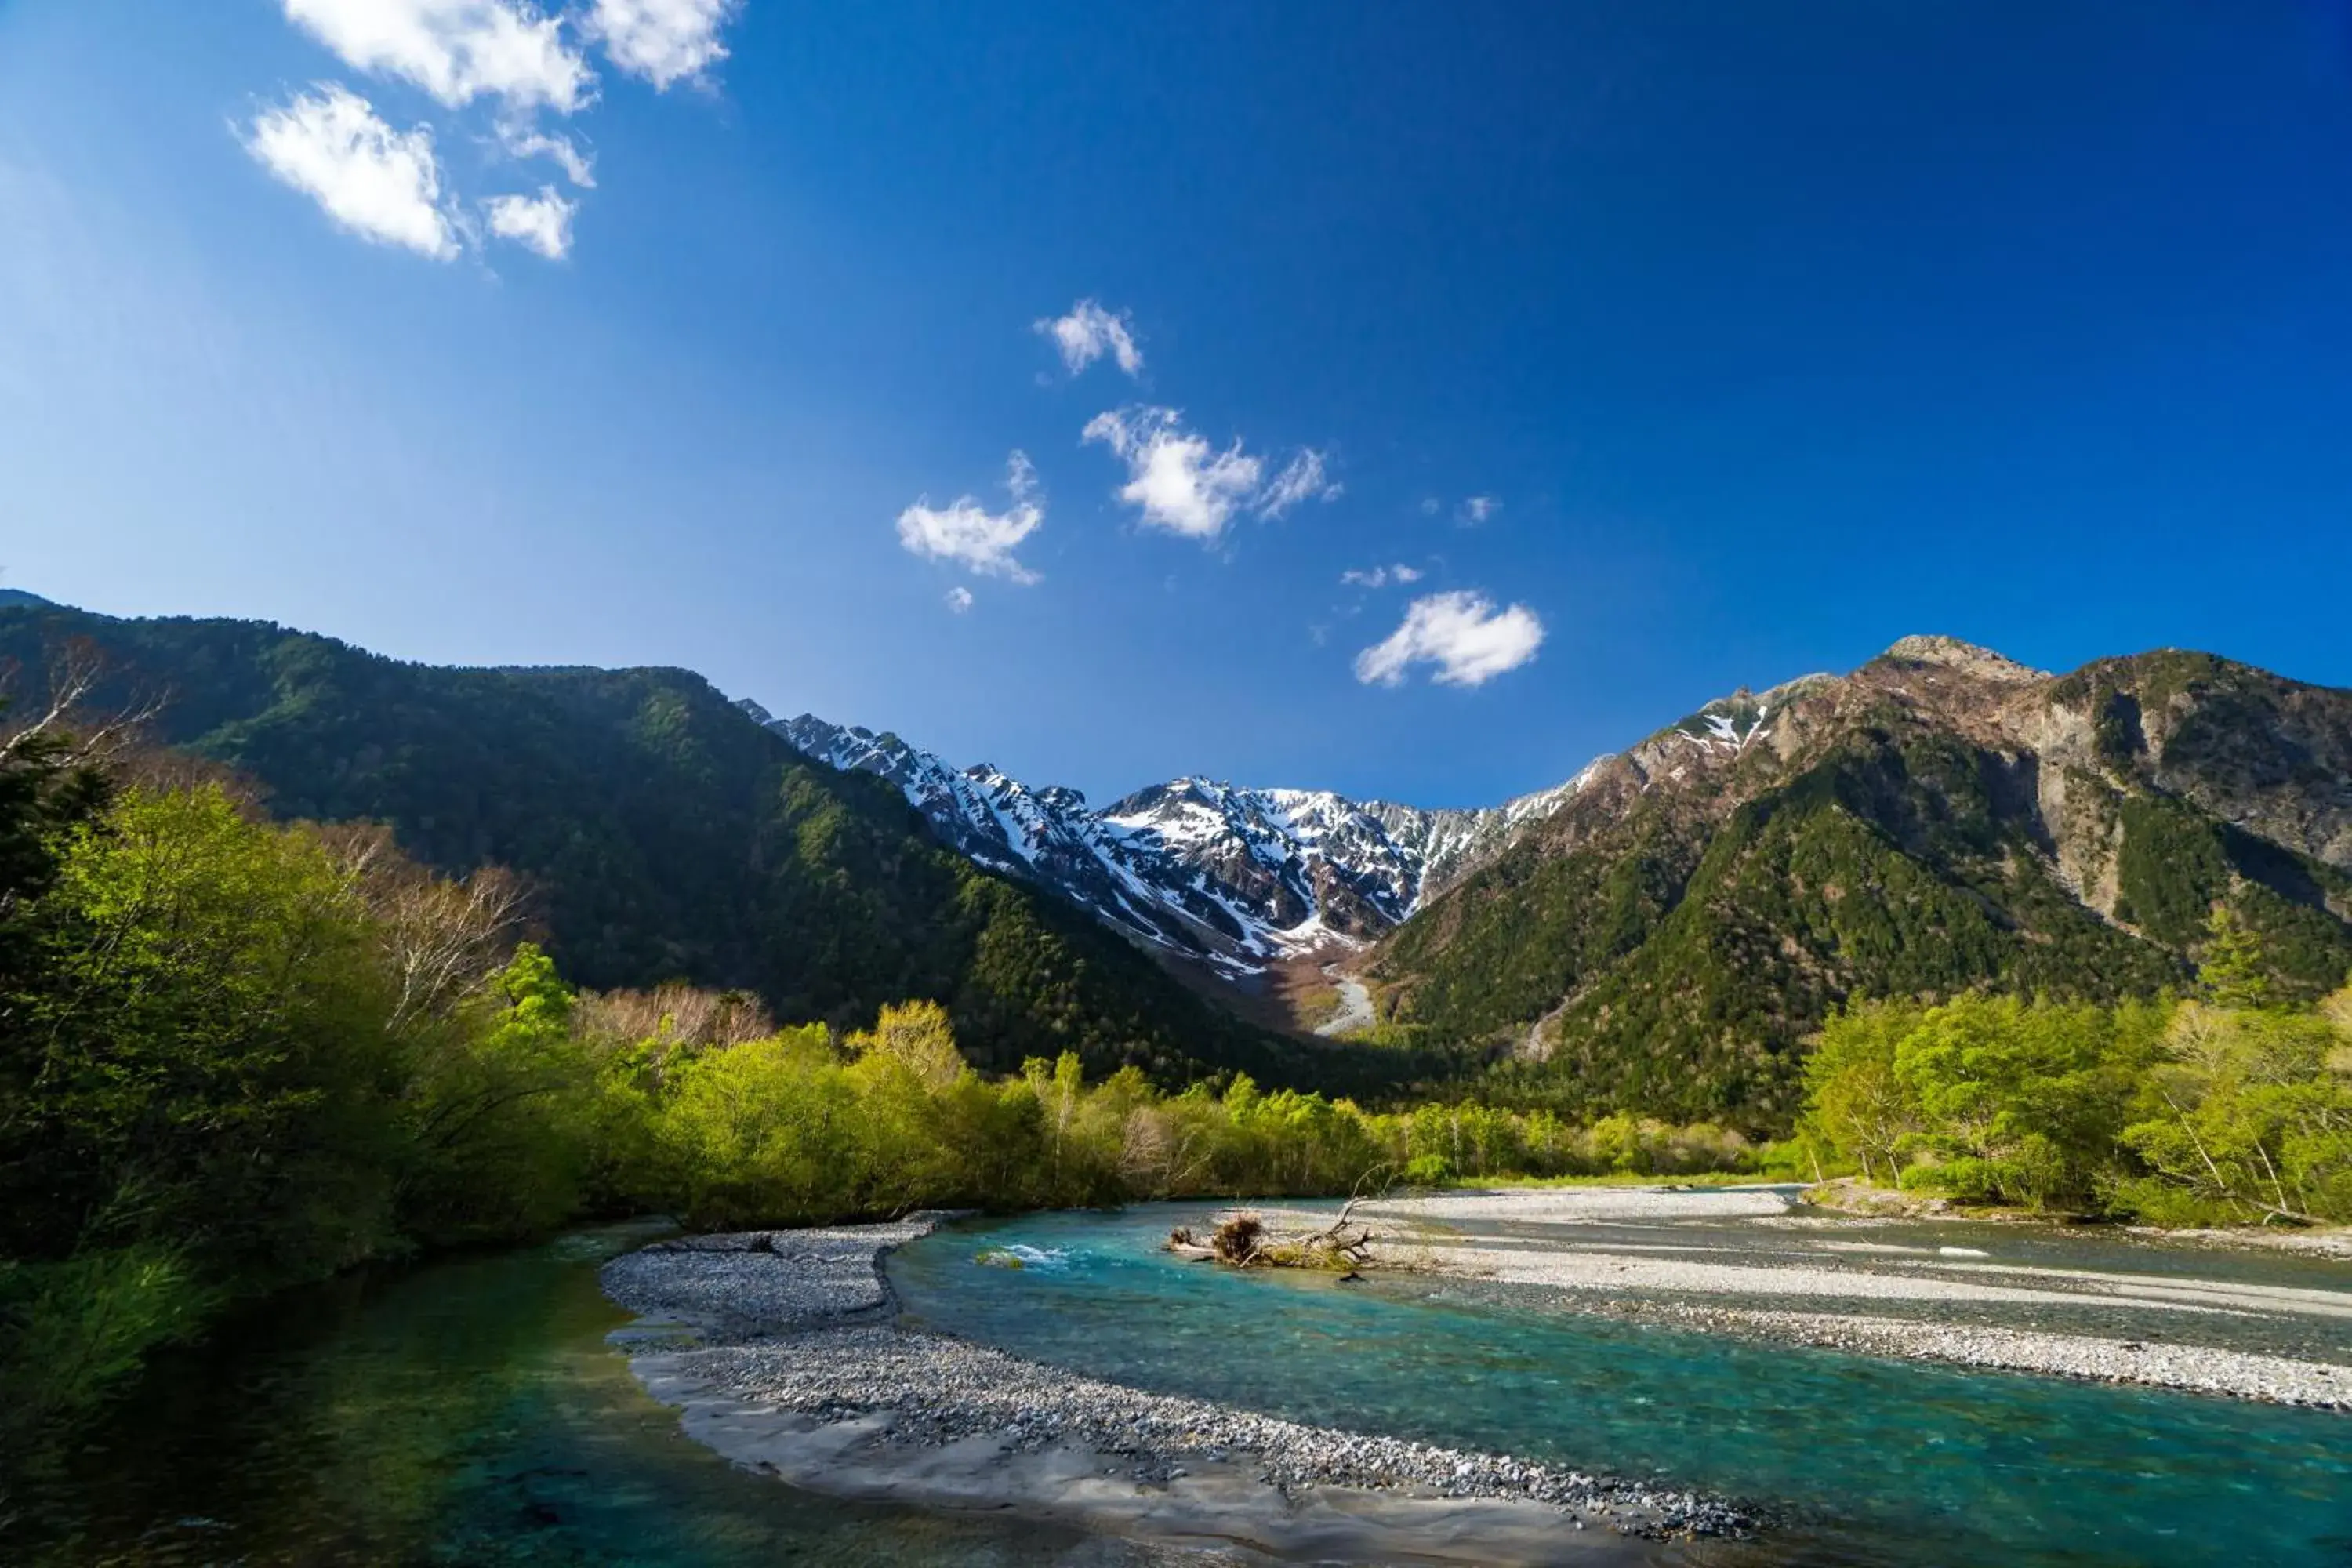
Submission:
[[[1905,637],[1425,811],[1200,776],[1094,809],[680,670],[433,670],[0,607],[21,670],[68,642],[273,811],[522,872],[588,985],[741,985],[842,1025],[938,997],[997,1067],[1058,1039],[1178,1081],[1475,1072],[1769,1133],[1856,997],[2183,990],[2216,907],[2281,999],[2352,969],[2352,693],[2206,654],[2051,675]]]

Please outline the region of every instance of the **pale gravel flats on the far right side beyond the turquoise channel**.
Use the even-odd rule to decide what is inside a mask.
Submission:
[[[1270,1220],[1284,1211],[1261,1211]],[[1912,1361],[2352,1410],[2352,1356],[2260,1347],[2352,1324],[2345,1288],[2225,1284],[2180,1272],[2046,1267],[1919,1246],[1891,1220],[1830,1215],[1797,1190],[1541,1187],[1364,1204],[1376,1251],[1406,1269],[1534,1286],[1559,1307]],[[1305,1220],[1308,1213],[1289,1218]],[[1691,1222],[1790,1234],[1785,1260],[1722,1262]],[[1642,1229],[1656,1227],[1656,1229]],[[1635,1239],[1639,1237],[1639,1239]],[[2150,1246],[2161,1241],[2140,1239]],[[2063,1319],[2067,1331],[2034,1326]],[[2079,1326],[2084,1331],[2077,1331]],[[2230,1340],[2251,1340],[2237,1342]],[[2338,1335],[2340,1342],[2340,1335]]]

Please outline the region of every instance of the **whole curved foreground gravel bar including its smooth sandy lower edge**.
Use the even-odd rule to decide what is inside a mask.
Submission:
[[[616,1340],[689,1436],[844,1497],[1317,1561],[1729,1561],[1677,1542],[1750,1528],[1684,1490],[1308,1427],[898,1328],[880,1258],[931,1222],[628,1253],[602,1272],[640,1314]]]

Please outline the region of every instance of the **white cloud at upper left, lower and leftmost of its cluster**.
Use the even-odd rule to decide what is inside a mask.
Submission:
[[[442,212],[433,132],[423,125],[395,132],[341,82],[320,82],[256,115],[245,150],[362,240],[435,261],[459,252]]]

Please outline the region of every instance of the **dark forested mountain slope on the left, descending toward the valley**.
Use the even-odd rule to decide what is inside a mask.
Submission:
[[[383,820],[435,867],[522,872],[581,985],[743,987],[779,1018],[837,1025],[929,997],[997,1070],[1063,1048],[1162,1079],[1350,1084],[1397,1065],[1202,1004],[1087,914],[936,844],[887,783],[802,757],[684,670],[447,670],[252,621],[0,607],[19,684],[75,639],[106,661],[99,703],[162,698],[155,738],[256,780],[278,816]]]

